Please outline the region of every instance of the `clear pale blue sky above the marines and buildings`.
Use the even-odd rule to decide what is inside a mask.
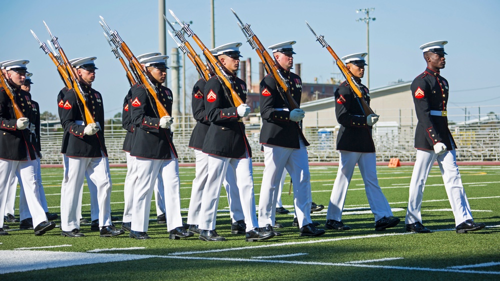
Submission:
[[[50,4],[49,4],[50,3]],[[435,4],[434,4],[435,3]],[[185,21],[192,20],[192,30],[211,45],[209,0],[166,0],[167,9]],[[421,1],[337,1],[337,0],[215,0],[215,45],[241,41],[243,58],[252,59],[252,82],[257,83],[258,57],[236,25],[229,8],[233,8],[264,46],[296,40],[294,56],[302,63],[304,82],[326,82],[339,78],[338,68],[326,49],[314,41],[304,20],[341,57],[366,51],[366,24],[355,19],[359,8],[374,7],[370,13],[370,88],[388,85],[399,79],[412,80],[425,68],[418,48],[433,40],[447,40],[446,67],[441,74],[450,84],[449,106],[485,106],[500,104],[499,64],[500,1],[442,0]],[[128,82],[122,66],[104,39],[98,24],[102,15],[116,29],[135,55],[158,50],[157,0],[65,0],[55,2],[24,0],[2,1],[3,19],[0,61],[28,59],[33,72],[33,99],[41,111],[57,111],[56,96],[62,87],[56,68],[48,55],[38,49],[29,32],[48,39],[45,20],[68,58],[97,56],[99,68],[93,87],[102,93],[106,117],[121,111]],[[168,13],[168,11],[167,11]],[[167,14],[167,18],[173,18]],[[178,27],[178,25],[176,25]],[[168,27],[168,26],[167,26]],[[195,43],[190,43],[198,51]],[[167,54],[175,43],[167,35]],[[168,61],[169,63],[169,61]],[[186,92],[197,79],[194,66],[186,58]],[[168,73],[170,75],[170,73]],[[167,77],[168,84],[170,76]],[[182,92],[182,89],[181,89]],[[408,106],[412,107],[412,104]],[[498,107],[494,108],[498,110]],[[488,109],[481,109],[484,112]],[[493,110],[493,111],[495,111]],[[463,110],[458,110],[457,112]],[[489,111],[489,110],[488,110]],[[498,112],[496,112],[498,113]]]

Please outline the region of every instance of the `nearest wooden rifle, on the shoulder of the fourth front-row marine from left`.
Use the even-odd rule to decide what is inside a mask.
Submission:
[[[224,82],[224,85],[227,87],[227,89],[230,91],[233,105],[235,107],[238,107],[240,104],[243,104],[243,101],[239,97],[238,93],[234,90],[232,77],[226,73],[226,71],[225,71],[224,67],[222,66],[222,64],[220,63],[220,61],[213,56],[213,54],[203,44],[203,42],[201,42],[201,40],[198,38],[198,36],[196,36],[196,34],[194,34],[194,32],[189,27],[188,23],[184,23],[184,22],[180,21],[175,16],[175,14],[173,13],[172,10],[168,10],[168,11],[170,11],[170,14],[175,18],[175,20],[179,23],[179,25],[182,26],[181,29],[184,30],[184,32],[187,34],[187,36],[191,36],[193,38],[194,42],[196,42],[196,44],[199,46],[199,48],[203,52],[203,55],[208,60],[208,63],[210,63],[212,66],[215,66],[215,67],[213,67],[213,70],[215,71],[215,74],[219,77],[219,79],[221,79]]]

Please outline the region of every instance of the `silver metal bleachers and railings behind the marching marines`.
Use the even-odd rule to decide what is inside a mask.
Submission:
[[[500,105],[493,106],[499,111]],[[394,112],[396,112],[394,114]],[[406,113],[404,113],[406,112]],[[416,126],[416,117],[412,115],[413,110],[391,110],[390,112],[377,112],[380,114],[379,122],[373,129],[373,141],[376,148],[377,161],[388,161],[389,158],[397,157],[401,161],[414,161],[415,149],[413,138]],[[470,113],[470,109],[469,109]],[[306,118],[314,114],[306,114]],[[334,113],[332,113],[334,118]],[[459,161],[498,161],[500,160],[500,120],[497,114],[469,115],[463,116],[448,115],[448,119],[464,120],[453,123],[450,121],[449,128],[458,146],[456,157]],[[397,121],[384,121],[384,120]],[[409,121],[399,121],[409,120]],[[258,143],[260,133],[260,116],[251,114],[244,120],[246,134],[252,149],[252,160],[263,162],[263,153]],[[177,149],[179,162],[194,162],[194,151],[187,147],[191,131],[195,125],[192,116],[185,115],[175,118],[172,125],[174,131],[173,142]],[[62,141],[62,131],[60,124],[59,131],[56,128],[42,128],[42,153],[41,162],[44,164],[60,164],[60,147]],[[329,127],[304,127],[304,134],[310,143],[308,146],[309,161],[338,161],[338,151],[336,146],[336,135],[338,125],[332,122]],[[114,118],[106,121],[105,143],[109,155],[110,163],[125,163],[125,153],[121,150],[125,137],[125,130],[121,128],[121,119]]]

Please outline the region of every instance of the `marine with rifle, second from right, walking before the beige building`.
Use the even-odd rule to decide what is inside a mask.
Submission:
[[[369,104],[370,96],[366,86],[361,84],[364,75],[364,57],[367,53],[354,53],[342,57],[357,82],[361,86],[364,100]],[[375,145],[371,137],[372,126],[378,120],[376,114],[365,114],[361,103],[347,81],[343,81],[335,90],[335,116],[340,128],[337,135],[336,149],[340,152],[338,171],[331,190],[325,226],[328,229],[347,230],[341,216],[347,187],[357,163],[364,181],[366,197],[371,212],[375,216],[375,230],[384,230],[396,226],[399,218],[392,216],[387,199],[378,185],[376,176]]]

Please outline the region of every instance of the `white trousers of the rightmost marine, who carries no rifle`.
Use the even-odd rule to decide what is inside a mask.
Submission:
[[[406,211],[406,224],[422,222],[420,207],[422,205],[423,189],[425,181],[429,175],[432,164],[437,159],[439,169],[441,170],[444,189],[448,195],[449,204],[455,217],[455,225],[462,223],[467,219],[472,219],[470,206],[463,189],[460,172],[456,165],[455,149],[448,150],[444,154],[437,155],[433,150],[416,150],[416,160],[411,174],[409,185],[408,208]]]

